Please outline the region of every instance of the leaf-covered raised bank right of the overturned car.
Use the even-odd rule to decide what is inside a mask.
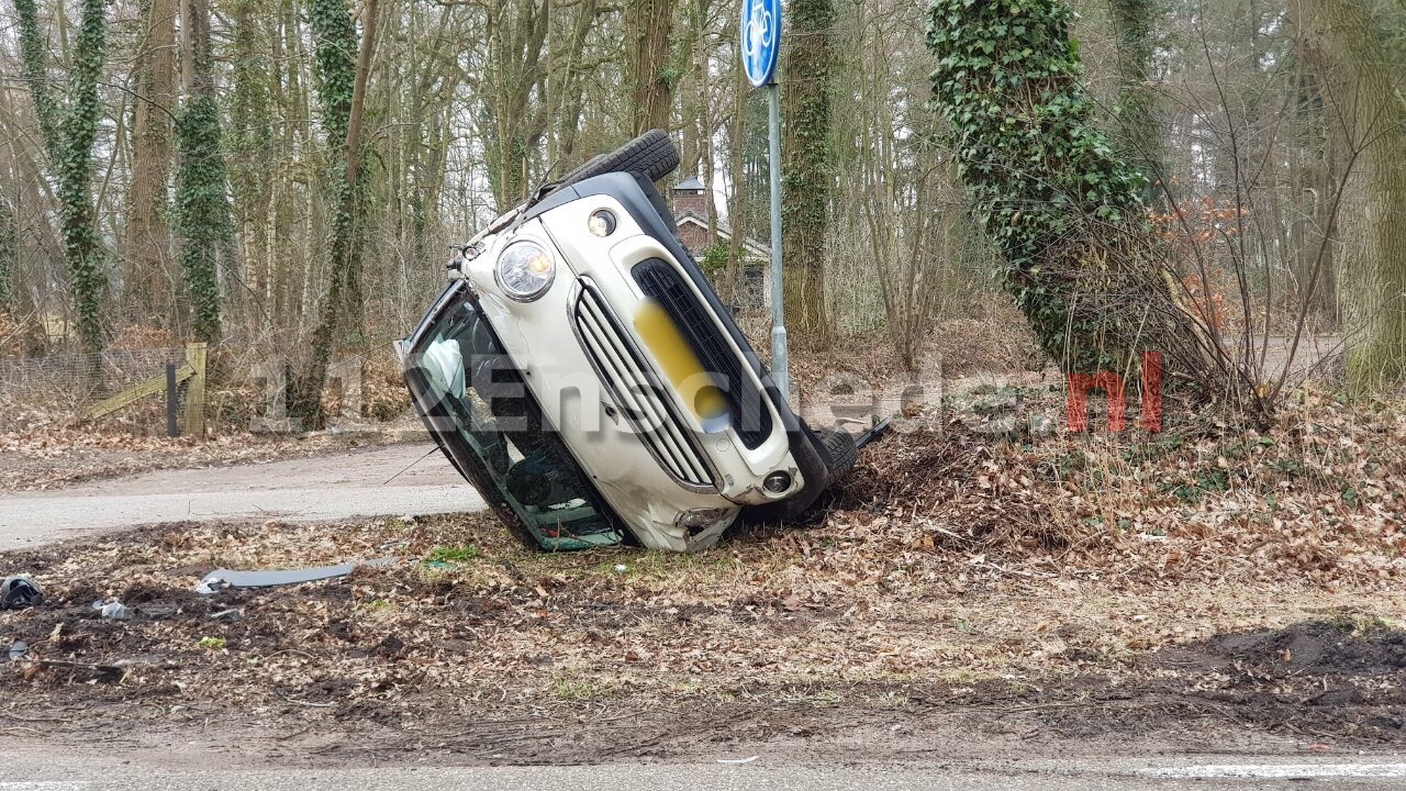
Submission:
[[[1309,394],[1267,432],[1191,415],[1163,435],[1012,439],[957,421],[876,446],[831,521],[1032,573],[1388,584],[1406,571],[1403,441],[1400,404]]]

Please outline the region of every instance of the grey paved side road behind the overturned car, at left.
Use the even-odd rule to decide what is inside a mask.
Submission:
[[[392,445],[263,464],[163,470],[42,494],[3,495],[0,550],[156,522],[326,521],[481,510],[484,501],[474,488],[440,452],[426,456],[429,450],[433,446],[425,443]],[[387,483],[406,467],[411,469]]]

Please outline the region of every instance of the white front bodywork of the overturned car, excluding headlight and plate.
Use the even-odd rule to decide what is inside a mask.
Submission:
[[[617,220],[607,236],[585,232],[591,214],[600,210]],[[641,543],[704,549],[741,507],[779,504],[807,488],[814,473],[793,455],[783,415],[762,397],[765,383],[723,332],[676,253],[638,222],[620,196],[586,194],[538,213],[512,234],[512,241],[522,238],[558,256],[557,277],[540,298],[517,303],[499,290],[494,266],[508,238],[468,262],[464,274],[543,412]],[[679,387],[664,380],[633,324],[648,298],[636,276],[641,266],[657,274],[661,266],[672,270],[675,287],[689,290],[681,298],[696,307],[692,318],[678,322],[681,331],[693,339],[700,327],[709,329],[718,345],[713,359],[730,355],[730,373],[748,377],[747,387],[730,384],[754,394],[744,419],[704,426]],[[699,324],[704,321],[711,324]],[[776,472],[792,484],[768,491],[763,480]]]

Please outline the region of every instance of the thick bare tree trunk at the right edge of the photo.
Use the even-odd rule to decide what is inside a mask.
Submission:
[[[1343,194],[1339,297],[1350,338],[1348,384],[1406,380],[1406,103],[1392,52],[1361,0],[1295,0],[1303,46],[1358,152]],[[1331,110],[1330,110],[1331,111]]]

